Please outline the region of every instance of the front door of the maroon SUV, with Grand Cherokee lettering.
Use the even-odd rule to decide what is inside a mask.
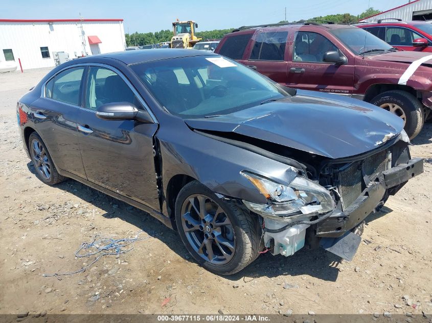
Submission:
[[[294,36],[288,61],[287,86],[339,94],[352,94],[354,60],[344,65],[325,63],[324,53],[338,51],[336,45],[322,34],[299,31]]]

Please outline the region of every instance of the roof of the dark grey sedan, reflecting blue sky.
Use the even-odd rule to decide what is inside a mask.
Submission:
[[[112,58],[119,60],[127,65],[151,62],[170,58],[190,57],[190,56],[211,56],[217,55],[212,52],[197,51],[196,49],[184,48],[155,48],[152,51],[127,51],[108,54],[99,54],[92,57]]]

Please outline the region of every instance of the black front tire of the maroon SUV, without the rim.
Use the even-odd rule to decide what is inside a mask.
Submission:
[[[378,107],[389,104],[399,106],[405,114],[404,129],[410,139],[416,137],[423,128],[423,106],[420,101],[417,100],[417,97],[411,93],[401,90],[386,91],[375,96],[370,103]],[[396,114],[401,116],[398,113]]]

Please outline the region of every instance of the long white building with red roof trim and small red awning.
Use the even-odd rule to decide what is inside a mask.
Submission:
[[[0,61],[23,69],[55,66],[57,52],[74,59],[125,47],[123,19],[0,19]]]

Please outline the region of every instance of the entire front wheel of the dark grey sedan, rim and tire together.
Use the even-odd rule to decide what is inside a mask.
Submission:
[[[175,221],[192,257],[216,274],[235,274],[259,256],[258,217],[234,201],[217,197],[198,181],[180,190],[175,202]]]

